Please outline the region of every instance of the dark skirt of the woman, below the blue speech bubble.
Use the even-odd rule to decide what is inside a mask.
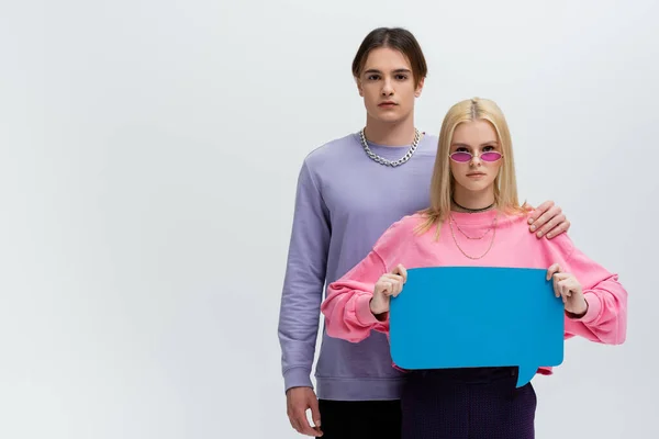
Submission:
[[[533,439],[536,394],[516,382],[517,368],[412,371],[402,439]]]

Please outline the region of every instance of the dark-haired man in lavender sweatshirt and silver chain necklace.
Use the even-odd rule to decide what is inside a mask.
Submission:
[[[400,438],[404,374],[392,368],[384,335],[351,344],[323,334],[316,392],[310,375],[325,285],[357,264],[392,223],[428,205],[437,137],[414,126],[426,74],[409,31],[370,32],[353,61],[366,127],[316,148],[302,164],[279,320],[288,416],[300,434]],[[538,238],[570,226],[551,202],[532,218],[529,233]]]

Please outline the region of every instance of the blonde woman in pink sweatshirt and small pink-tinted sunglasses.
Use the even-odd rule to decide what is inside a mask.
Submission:
[[[565,303],[566,338],[624,342],[627,292],[617,275],[577,249],[567,234],[536,239],[527,219],[503,113],[489,100],[457,103],[442,125],[431,206],[394,223],[366,258],[328,285],[321,307],[327,334],[351,342],[371,330],[388,334],[390,299],[404,294],[409,268],[527,267],[547,269],[554,280]],[[534,438],[536,394],[530,383],[515,389],[516,373],[516,368],[409,372],[402,437]],[[538,373],[550,374],[551,368]]]

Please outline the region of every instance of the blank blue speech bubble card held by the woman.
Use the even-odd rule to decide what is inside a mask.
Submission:
[[[391,301],[390,342],[403,369],[518,367],[517,387],[563,360],[563,303],[547,270],[407,270]]]

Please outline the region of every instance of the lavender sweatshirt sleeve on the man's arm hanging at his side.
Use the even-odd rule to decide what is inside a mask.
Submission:
[[[311,369],[325,284],[331,225],[306,161],[298,177],[293,225],[279,312],[284,387],[313,387]]]

